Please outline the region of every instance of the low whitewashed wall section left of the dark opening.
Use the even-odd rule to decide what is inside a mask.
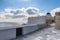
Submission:
[[[0,40],[16,38],[16,29],[0,30]]]

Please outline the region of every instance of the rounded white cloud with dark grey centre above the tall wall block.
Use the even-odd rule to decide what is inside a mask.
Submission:
[[[28,14],[28,17],[39,16],[39,9],[38,8],[28,7],[28,8],[26,8],[25,11]]]

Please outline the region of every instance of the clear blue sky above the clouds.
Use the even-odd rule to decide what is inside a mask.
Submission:
[[[5,8],[36,7],[40,12],[50,12],[60,7],[60,0],[0,0],[0,11]]]

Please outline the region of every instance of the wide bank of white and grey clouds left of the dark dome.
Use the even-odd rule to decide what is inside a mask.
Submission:
[[[29,14],[27,10],[30,10],[32,12],[31,13],[32,15]],[[28,17],[35,17],[40,15],[42,16],[43,14],[39,13],[39,9],[34,7],[19,8],[19,9],[7,8],[3,11],[3,14],[1,14],[1,17],[3,18],[0,21],[27,23]]]

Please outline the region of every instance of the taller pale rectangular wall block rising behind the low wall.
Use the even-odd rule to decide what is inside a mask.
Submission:
[[[46,16],[29,17],[28,24],[45,24]]]

